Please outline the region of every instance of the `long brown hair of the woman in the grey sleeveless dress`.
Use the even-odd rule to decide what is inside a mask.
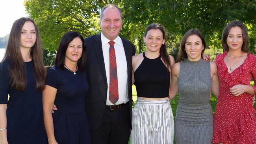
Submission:
[[[186,40],[187,38],[190,36],[190,35],[197,35],[198,37],[200,37],[201,41],[202,41],[202,45],[203,45],[203,50],[202,50],[202,54],[201,54],[201,57],[203,58],[204,56],[204,50],[206,48],[206,42],[204,40],[204,37],[202,35],[202,33],[197,30],[197,29],[192,29],[192,30],[189,30],[185,33],[185,35],[183,36],[182,38],[182,41],[180,42],[180,49],[179,49],[179,52],[178,52],[178,57],[176,59],[176,63],[180,62],[180,61],[183,61],[184,59],[187,58],[187,53],[186,53],[186,50],[185,50],[185,43],[186,43]]]

